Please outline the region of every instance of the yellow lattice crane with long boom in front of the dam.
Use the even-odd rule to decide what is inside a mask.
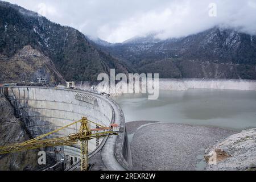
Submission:
[[[79,132],[76,134],[68,135],[67,137],[43,139],[48,137],[53,133],[57,133],[69,126],[75,125],[76,123],[81,123]],[[90,129],[90,123],[94,123],[99,126],[98,129]],[[47,134],[40,135],[34,139],[28,140],[23,143],[12,144],[10,146],[1,146],[0,154],[8,154],[25,150],[32,150],[41,147],[55,147],[55,146],[71,146],[81,142],[81,171],[87,171],[89,167],[88,163],[88,140],[93,138],[107,137],[109,135],[118,135],[119,127],[117,124],[111,125],[111,127],[104,127],[98,123],[89,121],[86,117],[81,120],[73,122],[67,126],[61,127],[60,129],[51,131]]]

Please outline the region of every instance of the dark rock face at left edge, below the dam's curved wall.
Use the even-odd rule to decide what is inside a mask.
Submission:
[[[0,146],[28,140],[21,121],[14,116],[9,101],[0,95]],[[37,150],[0,155],[0,171],[31,170],[38,166]]]

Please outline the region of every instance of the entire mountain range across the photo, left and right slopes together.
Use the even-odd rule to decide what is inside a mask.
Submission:
[[[236,30],[214,27],[177,39],[160,40],[150,34],[119,44],[100,39],[93,42],[75,28],[2,1],[0,22],[0,61],[5,63],[0,71],[10,73],[0,75],[4,80],[35,80],[36,76],[46,75],[55,81],[95,81],[99,73],[109,73],[110,68],[126,74],[159,73],[162,78],[256,79],[256,36]],[[46,59],[17,58],[24,50],[40,52]],[[32,74],[24,75],[26,70],[14,58],[21,65],[34,61],[37,66],[32,64]],[[13,64],[6,64],[7,60]]]

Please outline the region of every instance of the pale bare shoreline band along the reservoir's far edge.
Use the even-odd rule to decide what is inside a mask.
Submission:
[[[102,82],[81,81],[76,83],[76,88],[88,90],[90,92],[104,92],[112,97],[117,97],[123,94],[120,81],[116,85],[115,93],[109,92],[109,86]],[[141,83],[146,86],[145,83]],[[93,88],[93,89],[92,89]],[[129,86],[127,86],[129,88]],[[159,90],[184,91],[188,89],[226,89],[226,90],[256,90],[255,80],[238,80],[238,79],[204,79],[204,78],[159,78]],[[129,93],[133,93],[134,89],[129,88]]]

